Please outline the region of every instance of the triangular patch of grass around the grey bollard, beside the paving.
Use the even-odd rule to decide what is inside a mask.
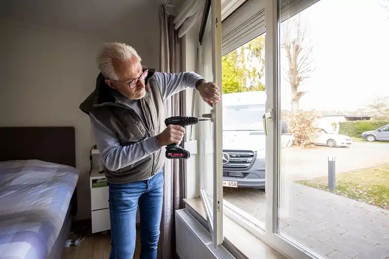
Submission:
[[[336,190],[328,190],[327,176],[297,183],[389,209],[389,163],[336,174]]]

